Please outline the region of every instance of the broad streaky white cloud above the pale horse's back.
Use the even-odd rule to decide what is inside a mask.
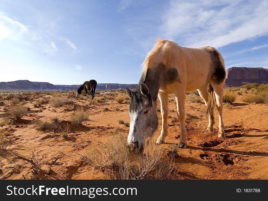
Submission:
[[[268,2],[171,1],[160,32],[184,46],[222,47],[268,33]]]

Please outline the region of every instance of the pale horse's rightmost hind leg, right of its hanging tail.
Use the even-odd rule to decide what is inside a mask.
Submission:
[[[210,84],[212,85],[214,92],[215,92],[215,96],[216,96],[216,107],[217,107],[217,111],[218,111],[218,115],[219,115],[219,132],[218,132],[218,137],[222,137],[225,138],[225,133],[224,133],[224,124],[223,124],[223,119],[222,119],[222,109],[223,109],[223,105],[222,105],[222,98],[223,98],[223,85],[224,82],[222,82],[221,84],[216,84],[214,82],[210,82]]]

